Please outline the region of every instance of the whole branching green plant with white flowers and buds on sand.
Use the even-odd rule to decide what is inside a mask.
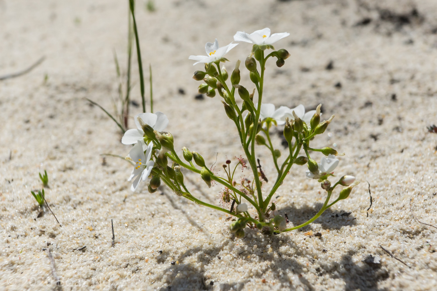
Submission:
[[[239,238],[245,236],[246,226],[276,234],[301,228],[316,220],[336,202],[348,197],[358,182],[355,181],[355,177],[348,175],[339,179],[334,178],[333,171],[339,163],[336,158],[337,151],[330,147],[310,146],[311,140],[325,132],[334,116],[321,122],[321,105],[316,110],[305,112],[303,105],[295,108],[281,106],[276,109],[273,104],[263,99],[265,64],[276,58],[278,67],[284,65],[285,59],[290,54],[285,49],[275,50],[273,44],[288,35],[288,33],[271,34],[269,28],[252,34],[238,31],[234,35],[234,41],[249,43],[252,46],[251,51],[250,48],[248,49],[250,53],[245,60],[245,66],[253,83],[245,85],[255,87],[252,93],[240,84],[239,60],[230,77],[224,67],[220,68],[221,62],[229,62],[225,55],[238,45],[237,43],[231,42],[229,45],[219,47],[216,39],[214,43],[206,43],[206,55],[191,55],[189,59],[196,61],[194,65],[205,65],[205,70],[196,71],[193,76],[193,79],[205,82],[199,86],[199,92],[206,93],[209,97],[214,97],[216,94],[220,96],[224,110],[239,134],[242,155],[234,162],[226,160],[222,165],[225,174],[217,175],[212,168],[208,168],[201,154],[190,151],[186,147],[182,147],[181,150],[175,147],[172,134],[164,131],[169,122],[164,113],[140,113],[134,117],[137,128],[127,130],[121,140],[123,144],[134,145],[126,157],[134,164],[128,178],[128,181],[132,181],[132,191],[137,190],[143,182],[149,192],[153,193],[161,183],[164,183],[178,196],[235,216],[237,219],[231,223],[229,229]],[[239,98],[243,100],[242,103]],[[288,143],[288,151],[282,163],[278,160],[281,152],[275,149],[271,142],[271,136],[276,132],[275,127],[281,130],[283,128]],[[266,175],[257,159],[256,149],[260,146],[267,147],[271,152],[277,171],[273,183],[267,184]],[[311,158],[310,154],[315,151],[322,152],[326,156],[322,157],[319,163]],[[301,152],[302,155],[299,155]],[[290,175],[290,168],[294,164],[307,165],[306,172],[302,170],[302,177],[305,175],[307,178],[317,179],[321,183],[321,188],[326,191],[326,199],[314,217],[301,225],[288,227],[288,219],[281,215],[273,215],[276,205],[271,199]],[[236,178],[237,167],[252,173],[243,178]],[[218,192],[217,205],[204,202],[191,194],[184,183],[184,171],[200,175],[208,187],[217,184],[221,188]],[[337,181],[332,185],[329,179],[337,179]],[[344,188],[338,189],[339,185]],[[262,187],[267,190],[264,195]],[[336,188],[337,198],[330,202]]]

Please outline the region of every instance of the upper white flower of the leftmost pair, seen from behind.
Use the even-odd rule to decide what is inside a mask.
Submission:
[[[156,131],[163,131],[168,125],[167,116],[160,111],[156,113],[139,113],[134,117],[135,125],[138,129],[127,130],[123,138],[121,138],[122,144],[135,144],[138,140],[143,139],[144,131],[142,130],[138,118]]]

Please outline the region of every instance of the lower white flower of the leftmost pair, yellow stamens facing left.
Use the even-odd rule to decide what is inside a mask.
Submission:
[[[126,159],[132,160],[135,163],[132,173],[128,178],[128,181],[131,181],[133,178],[136,177],[135,180],[132,182],[132,191],[135,191],[138,188],[139,182],[141,180],[147,180],[153,166],[155,165],[155,162],[150,160],[150,157],[152,156],[153,143],[150,142],[147,145],[146,154],[144,154],[143,144],[144,141],[142,139],[138,140],[137,144],[132,147],[131,151],[126,157]]]

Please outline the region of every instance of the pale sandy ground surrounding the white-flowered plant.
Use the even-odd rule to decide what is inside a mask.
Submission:
[[[275,45],[291,53],[284,67],[267,65],[265,102],[323,103],[323,117],[336,114],[329,134],[313,145],[337,144],[346,155],[336,173],[355,175],[361,184],[302,231],[271,237],[246,229],[243,240],[229,233],[227,216],[167,188],[132,193],[125,161],[107,157],[102,166],[99,154],[125,155],[130,147],[83,97],[112,108],[112,50],[123,68],[126,62],[125,2],[0,0],[0,75],[47,57],[29,74],[0,81],[1,290],[53,289],[47,248],[63,290],[436,290],[436,229],[414,220],[409,205],[413,199],[416,218],[437,225],[437,134],[426,128],[437,123],[434,0],[155,1],[154,13],[138,1],[155,111],[169,116],[177,148],[198,151],[208,164],[219,152],[218,168],[226,155],[242,154],[220,97],[194,100],[199,82],[191,75],[202,66],[188,60],[206,41],[227,45],[238,30],[291,33]],[[377,10],[410,14],[413,7],[420,17],[408,15],[403,25],[381,20]],[[354,26],[365,17],[372,19],[368,25]],[[229,72],[249,51],[241,44],[227,55]],[[132,98],[140,101],[137,66],[133,75]],[[242,84],[249,86],[247,77]],[[132,116],[139,112],[133,110]],[[282,148],[279,138],[274,143]],[[259,153],[273,180],[273,163],[266,151]],[[62,227],[49,212],[37,218],[30,191],[41,188],[44,169],[46,197]],[[277,213],[287,212],[294,224],[324,200],[319,183],[304,172],[293,167],[275,195]],[[218,203],[218,186],[208,189],[197,175],[184,174],[194,195]],[[373,197],[368,217],[366,181]],[[341,216],[345,212],[351,214]]]

